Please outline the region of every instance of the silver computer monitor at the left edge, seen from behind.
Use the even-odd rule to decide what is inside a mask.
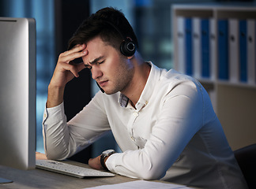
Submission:
[[[36,162],[36,21],[0,17],[0,165]]]

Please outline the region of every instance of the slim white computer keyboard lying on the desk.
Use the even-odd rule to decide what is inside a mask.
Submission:
[[[36,168],[51,172],[58,172],[68,176],[84,178],[86,176],[115,176],[111,172],[104,172],[96,169],[89,169],[77,165],[70,165],[62,161],[36,160]]]

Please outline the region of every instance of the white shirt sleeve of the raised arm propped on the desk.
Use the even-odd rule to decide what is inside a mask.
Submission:
[[[47,158],[55,160],[69,158],[111,129],[102,103],[104,96],[99,91],[69,122],[66,122],[63,102],[53,108],[45,109],[43,144]]]

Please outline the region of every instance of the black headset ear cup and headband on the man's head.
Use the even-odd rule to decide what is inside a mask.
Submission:
[[[112,28],[115,28],[115,31],[118,31],[119,34],[122,36],[122,43],[120,45],[120,51],[121,53],[126,57],[131,57],[135,54],[136,51],[136,45],[135,43],[128,37],[124,36],[122,32],[117,28],[114,24],[111,22],[104,20],[107,24],[109,24]]]

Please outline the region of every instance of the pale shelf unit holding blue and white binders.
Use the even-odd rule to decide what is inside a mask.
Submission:
[[[173,19],[171,29],[173,30],[172,35],[175,46],[175,69],[187,75],[194,76],[201,82],[206,91],[208,91],[213,103],[213,109],[220,119],[220,123],[233,150],[256,143],[256,116],[254,115],[256,112],[256,7],[183,4],[172,6],[171,9]],[[201,46],[203,44],[202,40],[205,40],[202,39],[203,20],[209,21],[207,23],[208,25],[206,25],[209,31],[204,31],[208,32],[207,37],[209,40],[206,43],[206,48],[205,46],[204,48]],[[223,46],[220,46],[224,39],[221,39],[222,36],[220,36],[219,20],[225,20],[224,24],[228,24],[228,31],[225,38],[227,42]],[[234,23],[233,20],[236,22],[236,29],[230,28],[234,26],[232,24]],[[242,27],[239,24],[242,21],[243,24],[244,22],[247,25],[250,24],[250,28],[248,29],[247,27],[246,35],[252,35],[250,42],[254,42],[249,44],[246,41],[247,54],[244,54],[244,51],[240,51],[243,50],[241,46],[232,46],[233,41],[230,41],[234,33],[237,38],[242,39],[242,36],[239,35],[239,27]],[[235,43],[242,44],[240,41],[236,41]],[[222,56],[223,51],[220,50],[220,47],[228,50],[227,54]],[[206,56],[209,56],[207,57],[208,59],[203,59],[203,50],[206,50],[204,53],[206,52]],[[245,67],[240,67],[243,60],[241,59],[242,61],[240,61],[239,58],[242,55],[247,58],[250,57],[251,60],[247,61],[246,69]],[[224,56],[227,59],[221,59]],[[203,65],[205,62],[209,65]],[[226,64],[226,67],[221,65],[223,62]],[[205,72],[205,68],[209,79],[202,75]],[[207,68],[209,69],[208,71]],[[241,68],[247,74],[247,78],[243,78],[247,82],[240,80]],[[225,72],[222,72],[223,70]],[[223,76],[220,73],[226,74],[225,80],[220,80],[222,78],[220,76]]]

